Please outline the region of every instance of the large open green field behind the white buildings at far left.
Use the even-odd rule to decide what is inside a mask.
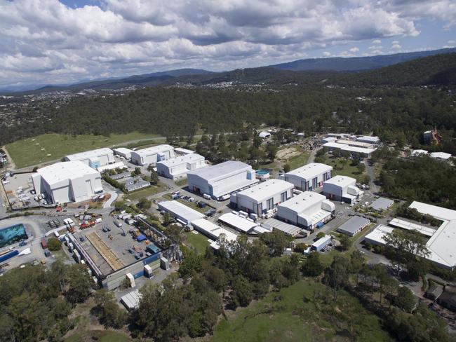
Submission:
[[[45,163],[60,159],[67,154],[112,147],[131,140],[157,139],[159,135],[132,132],[124,135],[58,135],[55,133],[39,135],[12,142],[6,145],[17,168]],[[145,140],[146,139],[146,140]],[[150,141],[148,142],[151,143]]]

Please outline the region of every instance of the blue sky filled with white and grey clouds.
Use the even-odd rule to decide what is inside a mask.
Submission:
[[[455,0],[0,0],[0,88],[450,46]]]

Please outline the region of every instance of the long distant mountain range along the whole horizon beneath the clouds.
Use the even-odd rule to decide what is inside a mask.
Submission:
[[[448,57],[438,57],[445,55],[448,55]],[[427,58],[432,57],[437,57],[436,61],[438,62],[432,62],[432,59],[427,60]],[[424,62],[420,62],[421,60]],[[434,83],[439,81],[446,82],[445,84],[455,84],[452,76],[454,70],[445,69],[445,64],[442,64],[450,63],[452,65],[453,60],[456,60],[456,48],[370,57],[313,58],[274,64],[268,67],[236,69],[224,72],[212,72],[203,69],[177,69],[72,85],[43,86],[38,89],[13,94],[35,94],[64,90],[79,92],[87,89],[116,90],[129,86],[173,86],[177,83],[190,83],[194,86],[207,86],[222,82],[297,83],[301,85],[312,83],[361,85],[362,83],[368,86],[369,82],[373,82],[373,85],[380,85],[382,82],[386,82],[384,84],[416,85],[422,84],[425,79],[428,79]],[[416,61],[417,64],[407,64],[410,61]],[[420,69],[420,64],[423,64],[422,68],[424,69]],[[406,66],[403,67],[403,65]],[[397,68],[394,68],[396,66]],[[392,69],[389,69],[391,67]],[[406,72],[403,72],[403,70],[406,70]],[[394,78],[397,75],[400,75],[399,79]],[[413,81],[414,76],[416,76],[415,81]],[[402,83],[401,79],[403,79]],[[11,90],[0,90],[0,95],[7,95],[8,93],[11,94]]]

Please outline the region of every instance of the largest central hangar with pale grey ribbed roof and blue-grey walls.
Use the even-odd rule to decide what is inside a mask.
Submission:
[[[250,165],[236,160],[189,171],[187,179],[191,191],[207,194],[216,200],[228,199],[234,191],[259,182]]]

